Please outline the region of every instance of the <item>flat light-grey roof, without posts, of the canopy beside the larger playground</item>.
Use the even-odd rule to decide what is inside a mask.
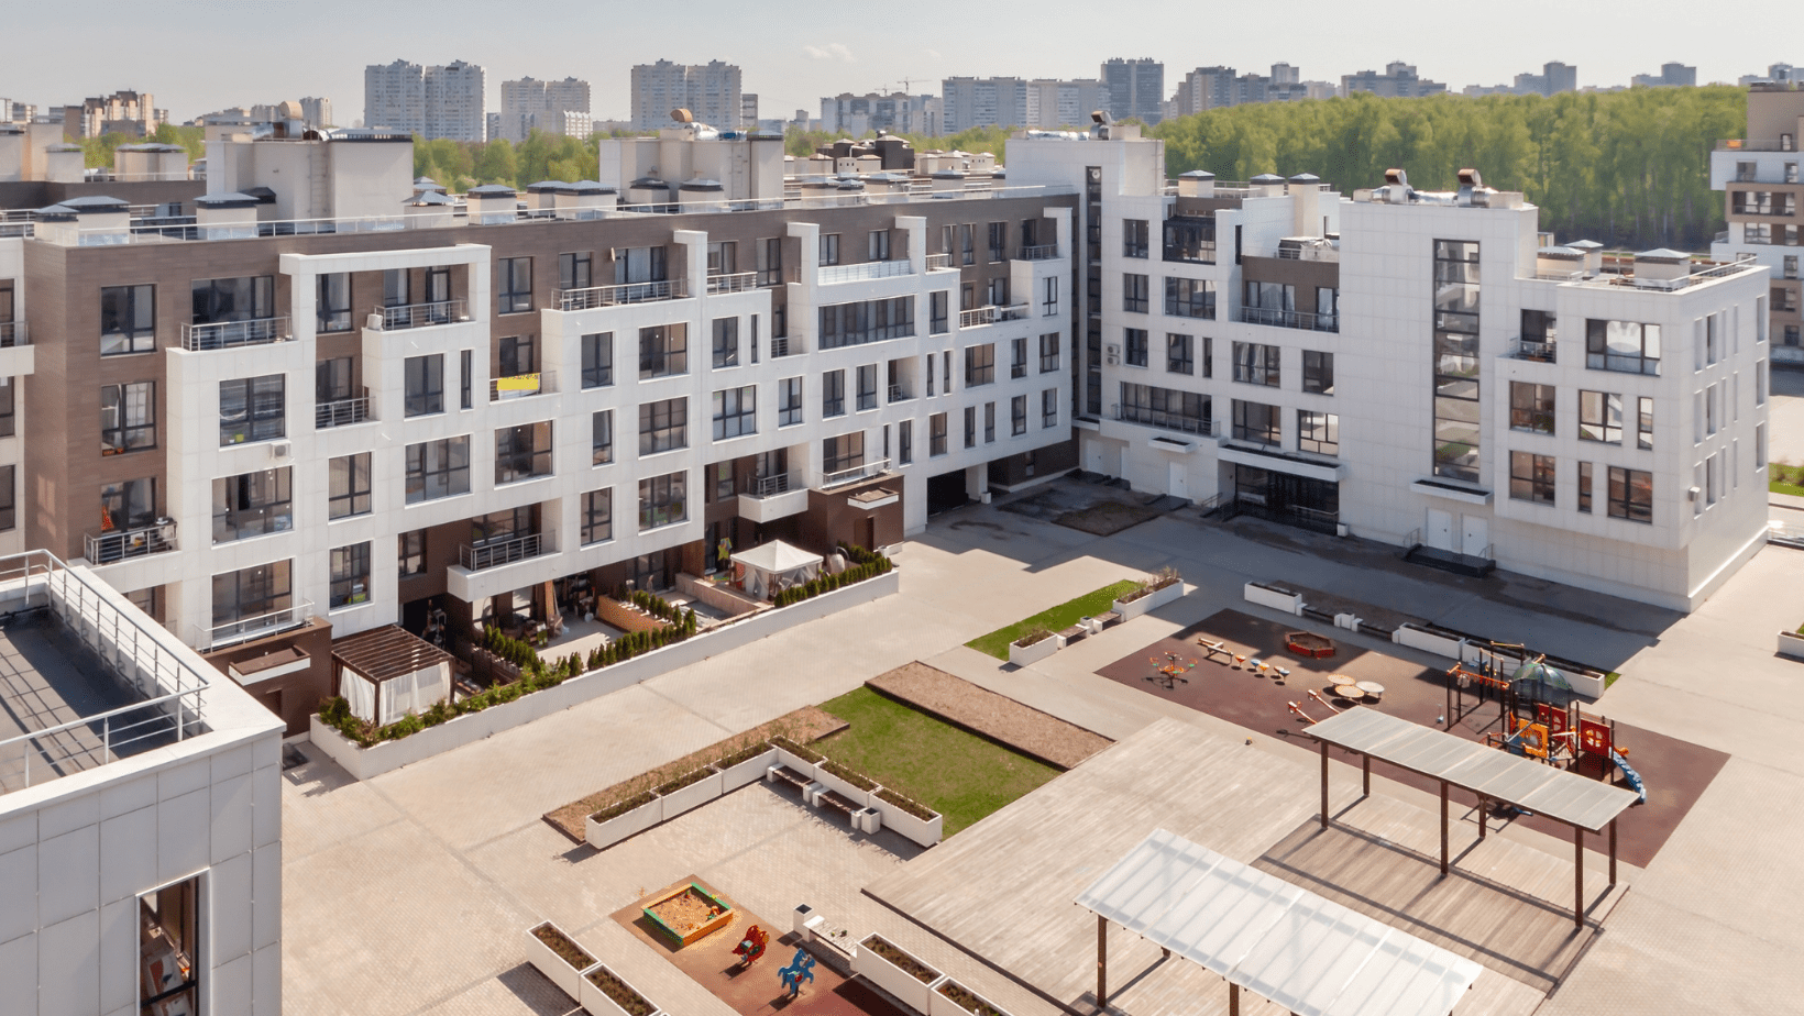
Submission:
[[[1304,733],[1319,742],[1369,754],[1431,780],[1445,780],[1474,794],[1508,801],[1588,832],[1602,830],[1640,799],[1634,790],[1588,780],[1364,706],[1330,716]]]

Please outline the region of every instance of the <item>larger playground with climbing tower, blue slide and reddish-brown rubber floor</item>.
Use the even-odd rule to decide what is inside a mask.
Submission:
[[[1299,641],[1297,635],[1308,637]],[[1293,642],[1308,651],[1295,651]],[[1322,642],[1331,642],[1331,655],[1324,655]],[[1615,751],[1647,790],[1645,803],[1629,808],[1620,821],[1620,857],[1634,866],[1652,861],[1728,760],[1719,751],[1609,722],[1582,702],[1577,716],[1569,707],[1537,707],[1526,693],[1510,702],[1506,679],[1514,675],[1514,668],[1508,666],[1467,664],[1463,671],[1449,673],[1449,668],[1423,668],[1348,639],[1301,633],[1293,626],[1238,610],[1216,612],[1097,673],[1310,751],[1315,745],[1304,729],[1312,722],[1326,720],[1349,706],[1366,706],[1425,727],[1488,742],[1501,751],[1533,756],[1539,749],[1555,763],[1564,763],[1577,753],[1577,772],[1611,776],[1618,785],[1638,790],[1625,771],[1609,762],[1607,753]],[[1541,677],[1539,671],[1535,677]],[[1512,724],[1506,706],[1515,706],[1519,722]],[[1445,725],[1445,716],[1454,722]],[[1335,756],[1351,760],[1342,753]],[[1385,774],[1422,790],[1438,790],[1425,776],[1389,769]],[[1461,810],[1465,808],[1470,803],[1463,803]],[[1564,836],[1559,823],[1506,807],[1494,810],[1490,821],[1523,823]]]

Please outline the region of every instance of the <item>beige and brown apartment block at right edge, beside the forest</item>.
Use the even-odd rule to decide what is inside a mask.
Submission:
[[[1804,137],[1804,88],[1752,85],[1748,132],[1717,141],[1710,153],[1710,188],[1723,191],[1728,229],[1717,233],[1716,260],[1753,258],[1772,271],[1768,328],[1773,359],[1804,363],[1804,179],[1799,177]]]

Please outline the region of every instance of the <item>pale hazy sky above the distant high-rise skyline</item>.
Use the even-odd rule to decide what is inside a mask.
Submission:
[[[1804,65],[1804,32],[1737,31],[1799,25],[1797,0],[1737,0],[1712,14],[1689,0],[1515,0],[1488,4],[1358,4],[1348,0],[1046,0],[906,5],[814,0],[631,0],[552,5],[494,0],[85,0],[79,9],[5,0],[0,97],[38,106],[119,88],[152,92],[188,121],[226,106],[301,96],[332,99],[334,119],[363,115],[363,69],[410,60],[487,67],[489,108],[502,81],[583,78],[597,119],[628,114],[635,63],[723,60],[759,96],[761,117],[821,115],[839,92],[940,92],[947,76],[1093,78],[1113,56],[1165,63],[1165,92],[1196,67],[1304,79],[1382,70],[1402,60],[1423,78],[1510,83],[1559,60],[1578,85],[1627,85],[1665,61],[1698,67],[1699,81],[1734,81],[1768,63]],[[105,25],[105,29],[101,29]]]

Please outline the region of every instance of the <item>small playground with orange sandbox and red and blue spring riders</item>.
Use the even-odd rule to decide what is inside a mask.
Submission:
[[[673,935],[662,920],[671,901],[693,910],[686,917],[700,935]],[[695,875],[610,917],[741,1016],[909,1016],[797,949],[787,922],[758,917]]]

